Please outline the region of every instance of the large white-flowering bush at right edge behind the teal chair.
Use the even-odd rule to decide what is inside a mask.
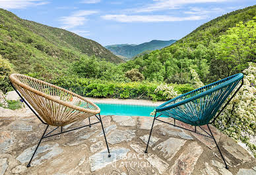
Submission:
[[[256,157],[256,146],[249,142],[249,137],[256,135],[256,64],[249,63],[243,74],[243,86],[214,125],[224,134],[245,143]]]

